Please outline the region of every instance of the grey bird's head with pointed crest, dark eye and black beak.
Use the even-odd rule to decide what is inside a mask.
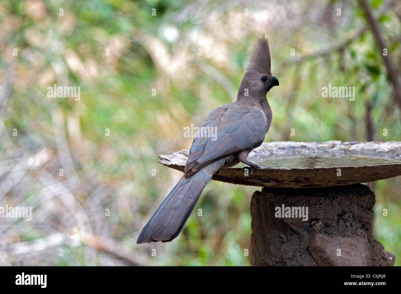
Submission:
[[[277,78],[271,75],[269,43],[264,35],[256,39],[255,46],[248,59],[238,97],[240,95],[246,97],[247,91],[249,96],[252,95],[254,98],[265,97],[266,93],[274,86],[278,86],[279,83]]]

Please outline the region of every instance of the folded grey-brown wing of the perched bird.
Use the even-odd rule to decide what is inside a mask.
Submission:
[[[207,131],[210,131],[209,136]],[[267,133],[267,118],[260,107],[233,102],[214,109],[192,142],[185,165],[190,174],[213,161],[260,146]]]

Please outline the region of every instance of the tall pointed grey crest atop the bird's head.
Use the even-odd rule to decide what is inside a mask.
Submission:
[[[271,78],[270,50],[265,35],[262,34],[255,40],[254,48],[249,54],[249,62],[245,70],[267,74],[268,78]]]

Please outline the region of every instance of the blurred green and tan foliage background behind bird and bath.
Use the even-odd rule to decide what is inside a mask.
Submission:
[[[400,70],[401,2],[369,5]],[[367,24],[353,1],[0,2],[0,206],[33,207],[31,222],[0,219],[0,264],[249,265],[256,187],[212,181],[194,209],[203,216],[192,213],[176,240],[136,244],[182,175],[158,155],[188,149],[183,128],[235,99],[261,33],[280,81],[265,141],[400,141],[400,109]],[[81,99],[48,98],[53,84],[81,87]],[[355,101],[322,98],[328,84],[355,87]],[[371,188],[375,237],[399,265],[400,177]]]

